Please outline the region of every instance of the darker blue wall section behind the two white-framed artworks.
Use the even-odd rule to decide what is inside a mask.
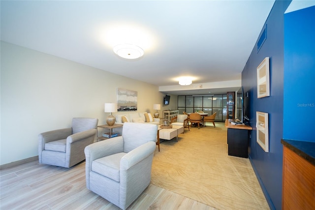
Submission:
[[[249,143],[249,158],[253,170],[271,209],[282,207],[282,160],[284,119],[284,11],[290,0],[276,0],[266,20],[266,40],[252,53],[242,72],[244,95],[249,93],[247,116],[253,130]],[[262,26],[263,28],[264,26]],[[258,37],[257,37],[258,38]],[[270,96],[257,99],[257,67],[265,57],[270,62]],[[269,152],[256,142],[256,111],[269,113]],[[295,114],[292,113],[294,116]],[[296,120],[296,119],[295,119]]]

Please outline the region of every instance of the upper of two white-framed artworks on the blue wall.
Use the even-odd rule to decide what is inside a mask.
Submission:
[[[257,67],[257,98],[270,96],[269,57]]]

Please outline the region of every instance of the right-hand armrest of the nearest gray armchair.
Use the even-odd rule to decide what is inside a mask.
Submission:
[[[126,171],[137,163],[141,162],[152,153],[154,153],[156,149],[156,142],[149,141],[137,148],[128,152],[120,161],[120,169],[121,171]]]

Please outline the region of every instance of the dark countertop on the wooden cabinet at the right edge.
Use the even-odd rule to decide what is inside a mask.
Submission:
[[[283,139],[281,143],[315,166],[315,142]]]

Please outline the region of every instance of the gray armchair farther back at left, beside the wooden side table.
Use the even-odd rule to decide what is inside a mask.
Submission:
[[[39,134],[39,164],[70,168],[83,161],[84,148],[95,140],[97,123],[95,118],[73,118],[71,128]]]

